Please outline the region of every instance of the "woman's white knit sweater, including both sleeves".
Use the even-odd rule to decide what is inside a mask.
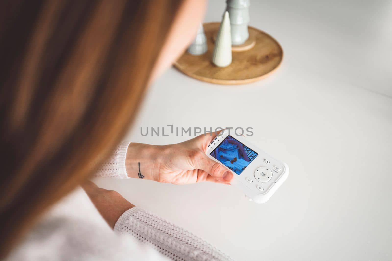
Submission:
[[[122,142],[97,176],[127,178]],[[231,260],[192,233],[133,207],[109,228],[81,189],[56,204],[8,260]]]

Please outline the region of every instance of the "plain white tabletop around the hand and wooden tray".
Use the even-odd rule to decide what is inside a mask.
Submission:
[[[285,56],[267,79],[213,85],[171,68],[154,83],[140,127],[252,127],[249,139],[290,167],[264,204],[235,187],[97,179],[206,239],[235,260],[392,258],[392,2],[251,1],[250,25]],[[220,20],[211,0],[205,21]],[[217,11],[219,10],[219,11]],[[165,130],[166,131],[166,130]]]

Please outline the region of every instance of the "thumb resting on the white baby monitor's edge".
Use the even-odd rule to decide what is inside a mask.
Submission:
[[[196,169],[202,169],[216,178],[216,180],[220,180],[225,183],[230,183],[234,178],[233,173],[231,173],[229,169],[222,166],[220,163],[215,162],[203,153],[200,153],[200,157],[196,157],[193,165]]]

